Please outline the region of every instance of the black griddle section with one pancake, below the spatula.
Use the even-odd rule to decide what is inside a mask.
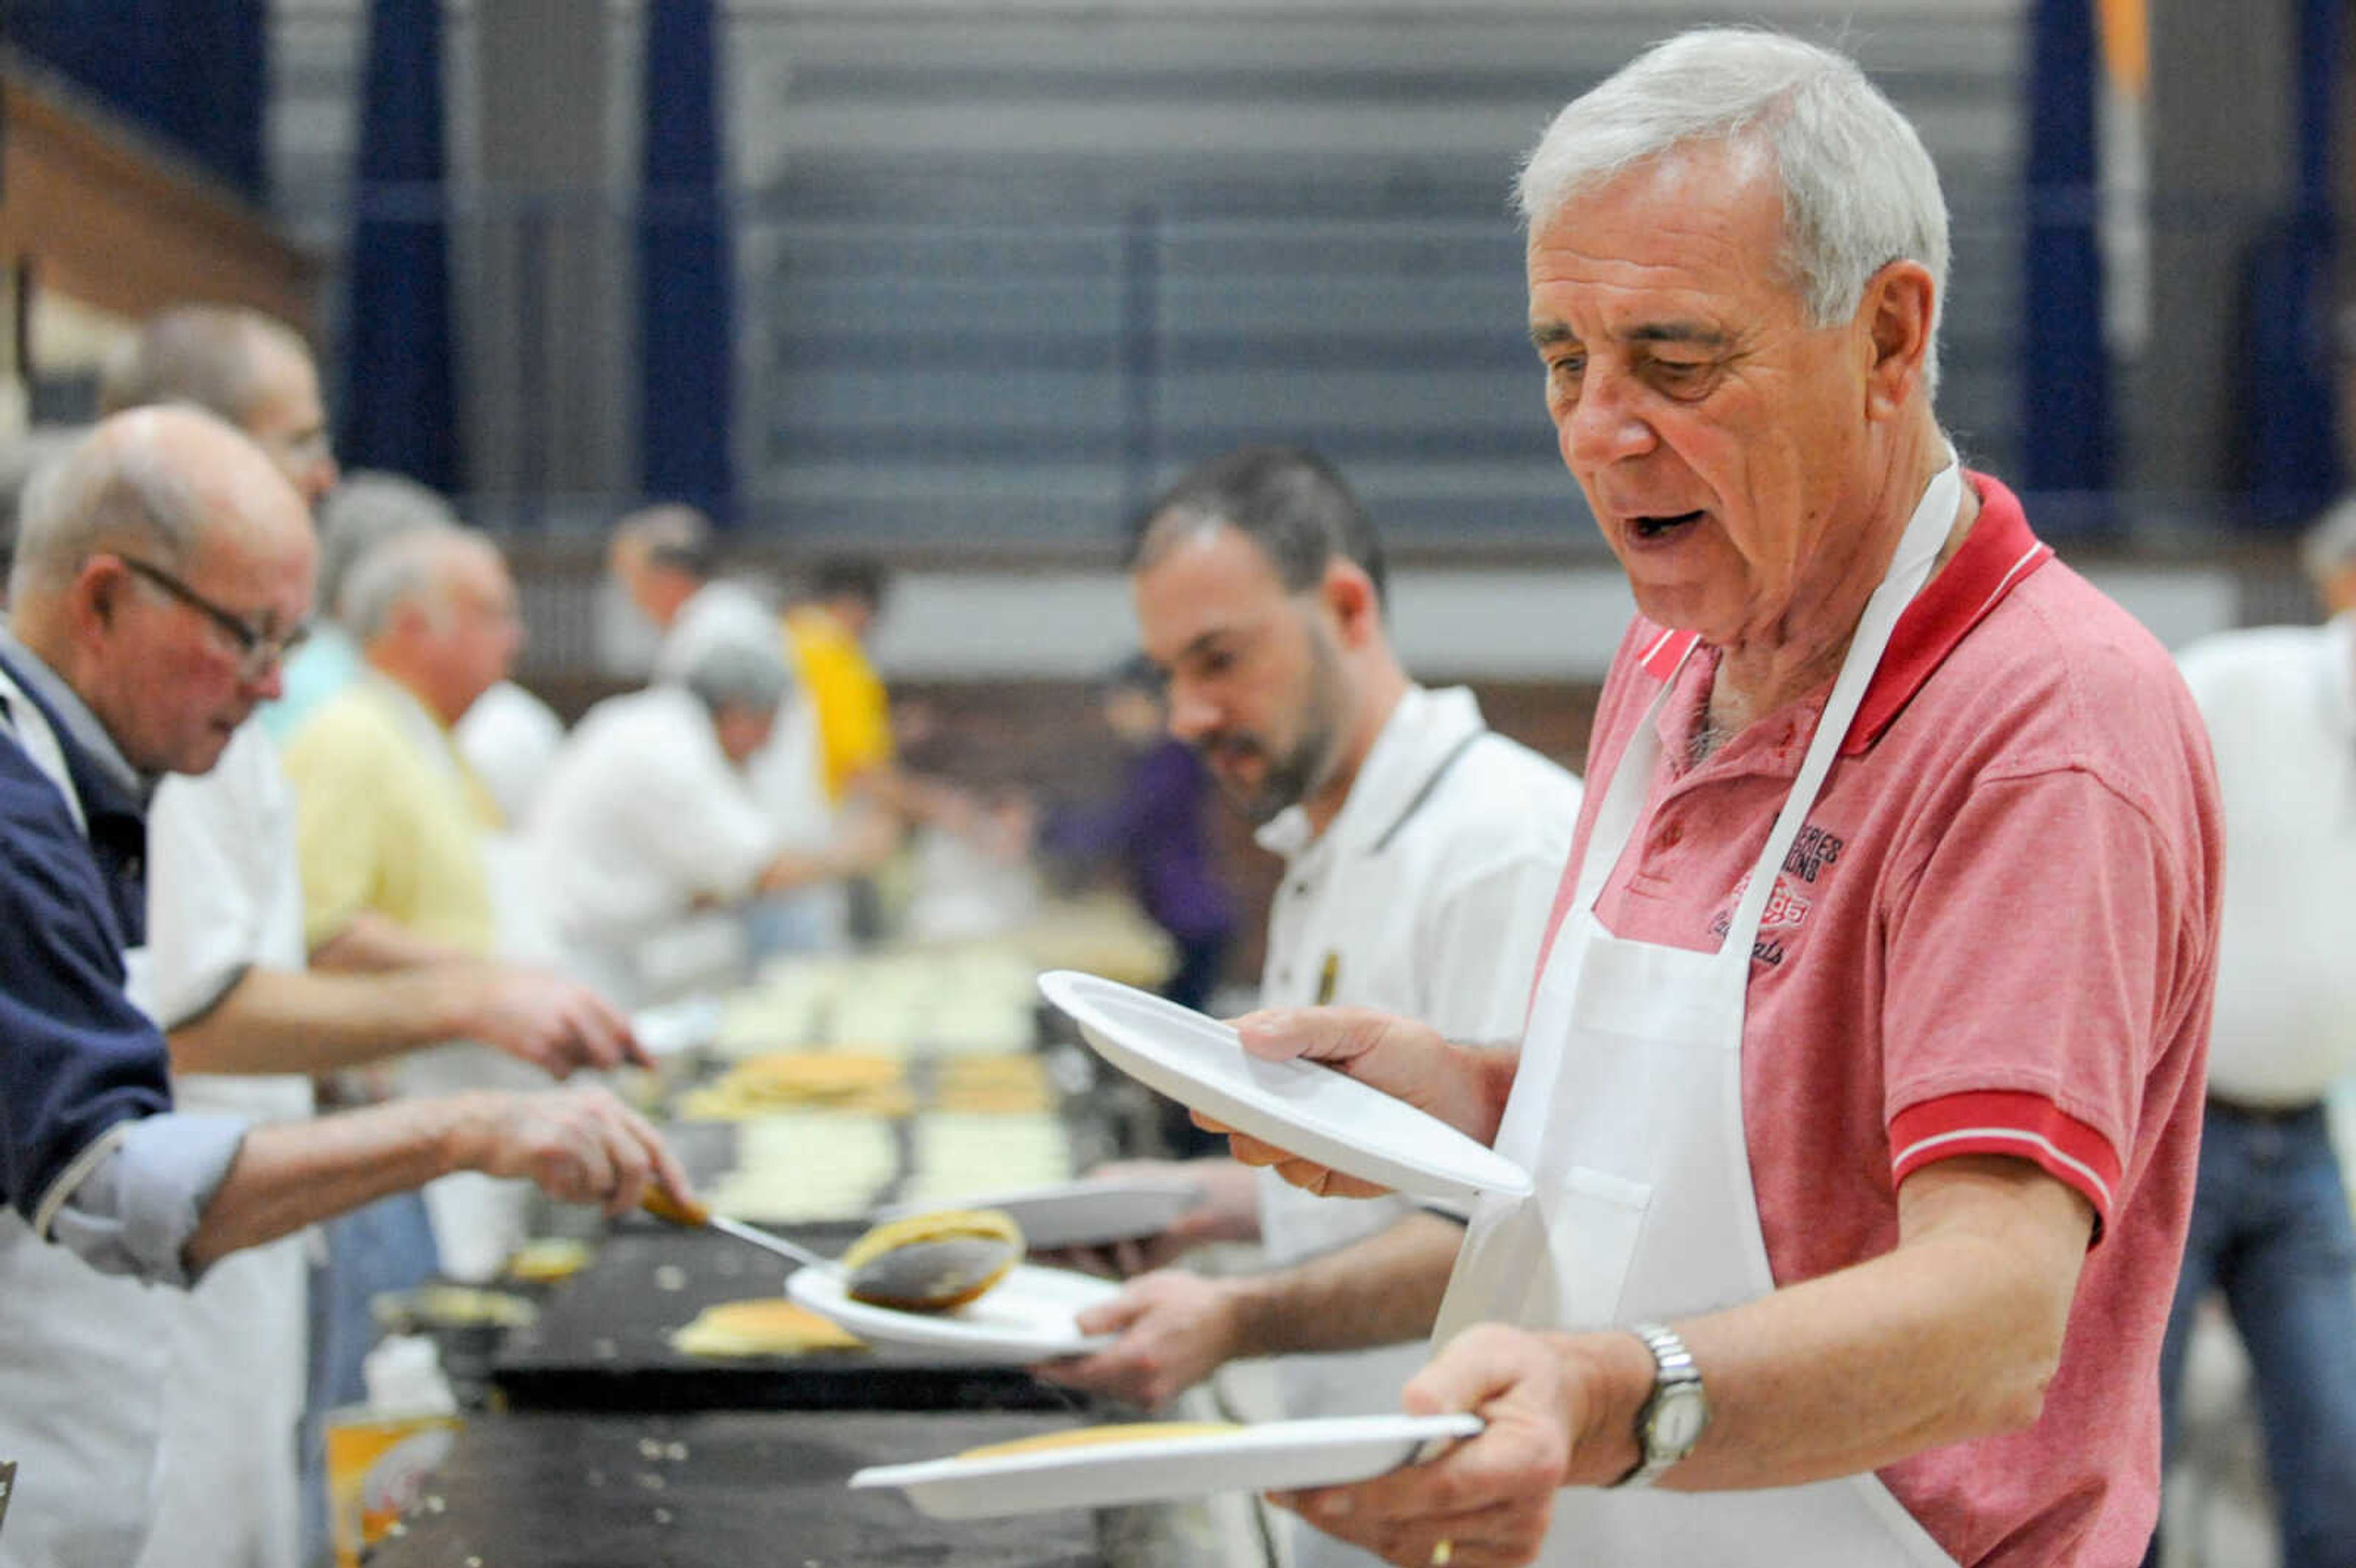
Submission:
[[[796,1227],[839,1253],[858,1227]],[[1084,1396],[1015,1366],[872,1349],[808,1356],[683,1356],[669,1335],[714,1302],[785,1290],[792,1264],[719,1231],[617,1229],[558,1285],[540,1321],[507,1335],[490,1382],[511,1410],[1086,1410]]]

